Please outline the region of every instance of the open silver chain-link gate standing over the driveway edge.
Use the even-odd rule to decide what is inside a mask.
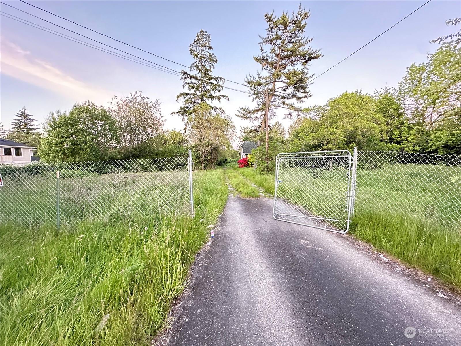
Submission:
[[[346,233],[354,212],[357,149],[281,153],[276,158],[273,217]]]

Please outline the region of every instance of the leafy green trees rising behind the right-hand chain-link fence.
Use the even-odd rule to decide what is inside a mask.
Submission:
[[[305,109],[290,151],[351,149],[461,153],[461,48],[444,44],[413,64],[396,89],[345,92]]]

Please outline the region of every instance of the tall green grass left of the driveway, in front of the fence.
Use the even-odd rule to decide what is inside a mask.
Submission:
[[[3,222],[0,343],[148,344],[228,196],[222,170],[195,172],[194,184],[193,218],[119,210],[60,232]]]

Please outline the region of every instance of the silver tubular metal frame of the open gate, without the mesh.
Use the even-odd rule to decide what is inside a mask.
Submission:
[[[326,223],[322,226],[316,225],[313,223],[306,223],[296,222],[296,220],[290,220],[290,218],[305,218],[306,220],[315,219],[319,221],[342,221],[333,218],[329,218],[327,216],[317,216],[317,215],[292,215],[288,214],[280,214],[276,212],[276,203],[277,203],[277,188],[280,181],[279,178],[279,169],[280,163],[283,162],[285,159],[320,159],[320,158],[327,158],[327,159],[345,159],[348,160],[348,186],[347,191],[345,191],[345,197],[347,197],[346,202],[346,209],[344,210],[346,213],[345,220],[346,227],[345,229],[339,229],[332,226],[327,225]],[[349,150],[325,150],[325,151],[309,151],[309,152],[296,152],[296,153],[280,153],[276,156],[276,171],[275,171],[275,192],[274,192],[274,203],[272,208],[272,217],[275,220],[285,221],[290,223],[296,223],[298,225],[308,226],[319,228],[327,231],[337,232],[337,233],[347,233],[349,231],[349,224],[351,217],[354,214],[354,204],[355,204],[355,191],[356,191],[356,175],[357,175],[357,148],[354,148],[353,155],[351,155]],[[285,202],[286,203],[286,202]],[[291,203],[290,203],[291,204]],[[293,205],[295,207],[295,205]],[[282,217],[280,217],[282,216]]]

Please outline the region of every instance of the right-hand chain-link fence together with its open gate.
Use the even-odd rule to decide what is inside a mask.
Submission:
[[[274,218],[347,232],[350,209],[461,232],[461,156],[361,151],[350,160],[339,151],[279,154]]]

